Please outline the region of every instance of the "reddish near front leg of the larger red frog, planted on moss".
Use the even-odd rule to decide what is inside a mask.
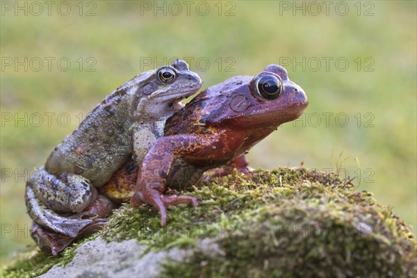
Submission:
[[[199,152],[210,152],[211,142],[213,138],[194,135],[166,136],[158,139],[142,161],[131,204],[137,207],[145,202],[158,208],[162,226],[167,222],[167,206],[186,203],[197,207],[197,198],[165,196],[163,190],[174,160],[181,156],[198,156]]]

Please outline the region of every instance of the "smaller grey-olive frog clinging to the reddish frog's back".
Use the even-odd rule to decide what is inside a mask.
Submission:
[[[202,85],[187,63],[144,72],[108,95],[56,146],[26,182],[31,234],[57,254],[80,234],[101,227],[112,202],[97,188],[129,158],[140,163],[182,98]]]

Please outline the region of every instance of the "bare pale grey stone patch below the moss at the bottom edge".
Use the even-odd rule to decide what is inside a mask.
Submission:
[[[192,254],[174,247],[139,258],[144,249],[145,246],[138,245],[135,239],[107,243],[98,237],[81,245],[70,263],[54,265],[39,277],[156,277],[161,270],[158,262],[168,258],[181,262]]]

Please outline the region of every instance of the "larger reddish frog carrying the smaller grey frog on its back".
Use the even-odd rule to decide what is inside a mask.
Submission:
[[[201,92],[165,124],[142,160],[136,188],[134,163],[128,162],[101,188],[113,199],[131,197],[131,204],[151,204],[166,224],[166,207],[198,205],[185,195],[164,195],[165,186],[185,185],[204,171],[222,165],[245,170],[243,154],[284,122],[297,119],[308,105],[302,88],[279,65],[256,76],[236,76]],[[130,190],[130,191],[129,191]]]

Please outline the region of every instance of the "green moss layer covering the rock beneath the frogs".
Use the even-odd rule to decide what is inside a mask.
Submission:
[[[121,243],[136,238],[142,248],[138,261],[150,253],[186,250],[181,259],[171,252],[158,261],[161,277],[417,276],[416,238],[407,225],[372,193],[359,193],[334,174],[258,170],[185,190],[202,203],[197,209],[170,207],[167,227],[161,228],[154,208],[126,204],[102,231],[60,256],[21,254],[2,276],[35,277],[65,265],[79,245],[97,237]]]

